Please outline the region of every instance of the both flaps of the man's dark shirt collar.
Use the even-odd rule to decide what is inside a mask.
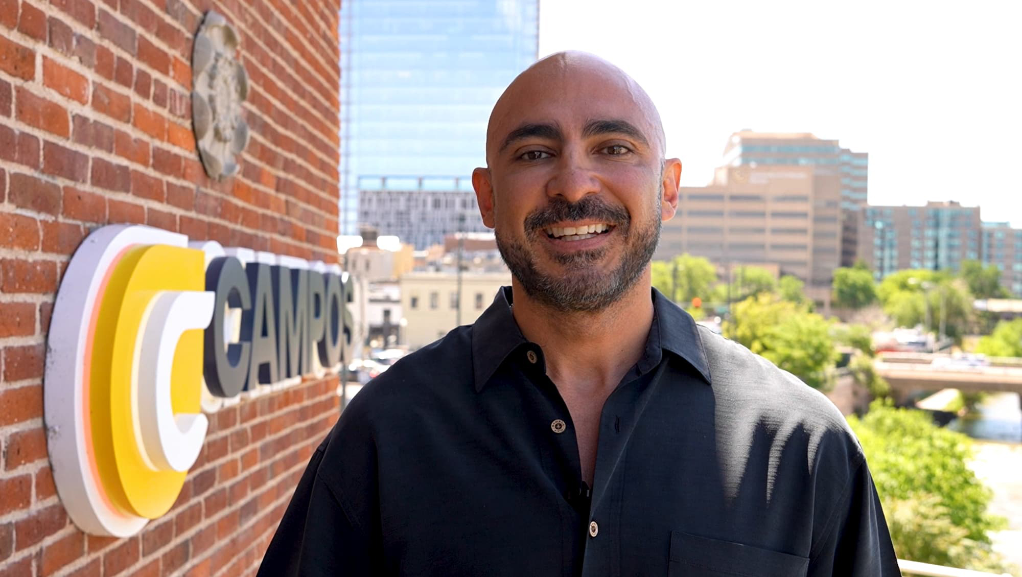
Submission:
[[[662,351],[667,351],[685,359],[707,385],[711,384],[709,362],[695,320],[656,288],[652,290],[652,298],[653,324],[639,370],[646,372],[659,364]],[[511,313],[512,302],[511,287],[502,286],[493,304],[472,325],[472,369],[477,392],[512,352],[528,345]]]

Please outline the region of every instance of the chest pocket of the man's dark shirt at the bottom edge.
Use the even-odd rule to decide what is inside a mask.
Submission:
[[[804,557],[670,532],[667,577],[804,577],[808,566]]]

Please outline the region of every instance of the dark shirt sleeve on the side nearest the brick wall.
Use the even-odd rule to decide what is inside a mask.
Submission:
[[[310,459],[257,577],[379,573],[374,567],[378,548],[370,533],[345,511],[337,488],[319,475],[324,446]]]

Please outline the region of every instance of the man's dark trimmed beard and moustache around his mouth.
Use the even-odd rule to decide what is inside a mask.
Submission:
[[[564,273],[545,274],[537,266],[537,255],[526,243],[537,247],[545,241],[545,228],[563,221],[597,220],[614,226],[625,243],[620,264],[609,274],[593,267],[609,252],[608,247],[570,254],[551,254],[564,266]],[[607,308],[632,288],[653,258],[660,239],[660,195],[649,222],[635,223],[628,211],[612,207],[597,196],[586,196],[575,204],[557,196],[525,218],[525,242],[496,231],[497,248],[525,293],[556,310],[599,311]],[[636,225],[636,226],[633,226]]]

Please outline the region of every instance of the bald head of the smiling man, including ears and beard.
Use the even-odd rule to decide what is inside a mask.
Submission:
[[[601,310],[645,271],[673,215],[681,164],[663,160],[649,97],[588,54],[522,73],[494,107],[483,222],[525,292],[558,310]]]

